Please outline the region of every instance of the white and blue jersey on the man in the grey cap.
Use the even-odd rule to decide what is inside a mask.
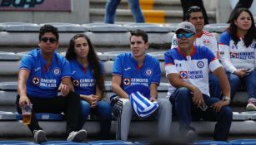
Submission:
[[[180,78],[196,86],[202,94],[209,96],[208,70],[216,70],[221,65],[212,51],[204,46],[194,46],[193,53],[185,56],[179,48],[173,48],[164,53],[166,75],[179,74]],[[169,86],[168,96],[173,94],[176,88]]]

